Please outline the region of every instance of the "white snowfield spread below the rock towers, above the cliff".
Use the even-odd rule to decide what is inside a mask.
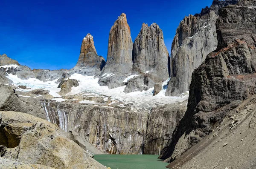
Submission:
[[[108,76],[108,75],[106,75]],[[129,80],[136,75],[132,75],[127,77],[125,80]],[[58,99],[52,99],[58,102],[65,101],[65,99],[61,98],[61,95],[59,95],[57,92],[60,92],[61,89],[57,88],[58,84],[56,83],[56,80],[43,82],[41,80],[35,79],[35,78],[29,78],[28,80],[22,80],[18,78],[16,75],[8,74],[7,76],[10,80],[12,80],[12,84],[14,86],[19,85],[25,85],[27,88],[31,89],[19,89],[23,92],[28,92],[34,89],[47,89],[49,90],[49,95],[52,95],[52,97],[58,97]],[[182,95],[181,97],[169,97],[165,96],[165,92],[167,89],[167,83],[169,82],[169,79],[166,80],[163,83],[163,89],[162,91],[156,95],[153,96],[153,90],[154,88],[151,88],[147,91],[143,92],[131,92],[128,94],[125,94],[123,91],[125,89],[125,86],[121,86],[115,89],[108,89],[108,86],[99,86],[98,78],[94,78],[94,76],[84,76],[82,74],[72,74],[71,77],[68,77],[70,79],[76,79],[79,82],[79,86],[72,87],[71,92],[67,93],[65,96],[71,96],[71,95],[81,95],[81,96],[95,96],[95,97],[104,97],[104,100],[107,101],[108,98],[111,98],[111,104],[122,102],[124,104],[132,103],[134,106],[138,107],[152,107],[154,105],[164,105],[168,103],[174,103],[177,101],[183,101],[188,98],[188,95]],[[67,79],[68,79],[67,78]],[[66,80],[67,80],[66,79]],[[104,95],[104,96],[101,96]],[[90,103],[90,104],[97,104],[94,101],[89,100],[81,100],[79,103]]]

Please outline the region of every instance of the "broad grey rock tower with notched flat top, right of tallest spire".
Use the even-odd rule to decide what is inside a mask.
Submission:
[[[154,72],[168,79],[169,53],[163,41],[163,31],[156,23],[148,27],[143,23],[133,46],[133,72]]]

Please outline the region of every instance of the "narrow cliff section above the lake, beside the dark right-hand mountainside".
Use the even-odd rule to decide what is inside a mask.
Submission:
[[[172,132],[186,112],[186,104],[172,103],[151,110],[148,117],[147,133],[144,140],[144,154],[160,155]]]

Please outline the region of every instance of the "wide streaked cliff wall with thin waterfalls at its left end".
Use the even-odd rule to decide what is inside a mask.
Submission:
[[[45,104],[49,120],[74,130],[93,146],[110,154],[141,154],[147,113],[107,106]]]

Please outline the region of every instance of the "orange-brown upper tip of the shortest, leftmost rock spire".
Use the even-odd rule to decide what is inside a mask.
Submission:
[[[84,54],[87,54],[88,52],[94,52],[95,54],[97,54],[94,46],[93,36],[91,34],[87,34],[84,37],[84,40],[81,45],[81,51],[80,51],[80,53],[84,53]]]

